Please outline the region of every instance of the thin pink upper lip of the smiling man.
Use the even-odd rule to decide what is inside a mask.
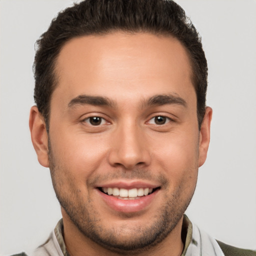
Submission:
[[[142,187],[142,188],[156,188],[160,186],[159,184],[152,183],[149,181],[141,181],[141,180],[119,180],[119,181],[109,181],[104,183],[99,183],[96,187],[118,187],[118,188],[125,188],[131,189],[134,187]]]

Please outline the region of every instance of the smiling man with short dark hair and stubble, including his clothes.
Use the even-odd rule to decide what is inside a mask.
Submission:
[[[183,215],[212,110],[200,38],[177,4],[75,4],[39,39],[34,73],[31,138],[63,216],[35,255],[255,255]]]

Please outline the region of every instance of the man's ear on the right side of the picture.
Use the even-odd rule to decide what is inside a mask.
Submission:
[[[201,123],[199,137],[199,167],[205,162],[210,142],[210,121],[212,116],[211,107],[207,106]]]

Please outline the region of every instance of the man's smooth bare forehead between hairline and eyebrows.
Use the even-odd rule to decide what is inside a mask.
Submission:
[[[61,97],[79,94],[107,97],[136,92],[146,97],[194,91],[188,54],[174,37],[150,33],[113,32],[69,40],[61,49],[53,92]]]

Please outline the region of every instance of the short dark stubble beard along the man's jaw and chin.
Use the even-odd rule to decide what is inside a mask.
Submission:
[[[175,228],[192,198],[194,189],[185,201],[180,201],[182,189],[178,189],[171,196],[165,195],[165,198],[169,197],[165,205],[157,210],[154,221],[147,226],[136,225],[136,227],[129,228],[128,232],[127,225],[105,228],[100,216],[92,207],[93,198],[88,194],[87,200],[83,199],[83,195],[79,193],[79,189],[72,182],[72,177],[70,174],[68,175],[68,170],[56,163],[50,149],[50,143],[48,145],[52,184],[61,207],[84,236],[112,252],[122,255],[135,254],[154,247]],[[145,171],[138,169],[136,172],[135,175],[141,177],[141,175],[144,176]],[[66,173],[67,176],[64,176],[63,174]],[[163,180],[163,178],[162,176],[159,177],[164,184],[161,189],[168,186],[167,179],[164,178]],[[65,189],[66,187],[68,187],[68,191]],[[128,218],[130,216],[127,215]]]

